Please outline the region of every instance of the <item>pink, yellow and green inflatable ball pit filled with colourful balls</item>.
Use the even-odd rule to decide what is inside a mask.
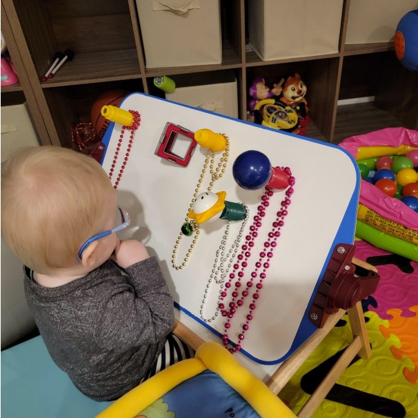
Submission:
[[[340,146],[361,172],[356,237],[418,261],[418,132],[386,128]]]

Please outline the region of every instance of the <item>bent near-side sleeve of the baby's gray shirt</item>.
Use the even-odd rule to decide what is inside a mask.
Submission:
[[[157,344],[174,327],[173,301],[157,259],[150,257],[126,271],[132,284],[115,283],[100,303],[94,338],[102,348]]]

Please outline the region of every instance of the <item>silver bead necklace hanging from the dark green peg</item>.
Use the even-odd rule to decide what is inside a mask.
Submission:
[[[241,228],[239,228],[238,235],[235,238],[235,241],[232,244],[231,248],[228,250],[228,254],[225,255],[225,248],[226,248],[226,243],[228,242],[228,236],[229,236],[229,233],[230,233],[230,223],[231,223],[231,221],[228,221],[228,223],[226,225],[226,228],[225,228],[225,231],[223,233],[223,237],[222,237],[222,240],[221,240],[221,245],[217,249],[217,252],[216,252],[216,255],[215,255],[215,262],[213,264],[212,272],[210,273],[208,283],[206,284],[205,293],[203,295],[203,299],[202,299],[201,306],[200,306],[200,317],[205,322],[215,321],[215,319],[217,318],[217,316],[219,314],[219,306],[218,306],[218,303],[217,303],[217,308],[216,308],[215,314],[210,318],[204,317],[203,310],[204,310],[204,307],[205,307],[206,298],[208,297],[208,293],[209,293],[209,290],[210,290],[210,287],[211,287],[213,281],[215,281],[216,284],[221,285],[220,288],[219,288],[218,301],[220,300],[221,292],[222,292],[222,289],[223,289],[223,282],[225,281],[226,275],[228,275],[228,272],[230,270],[230,266],[232,266],[232,261],[234,261],[234,259],[235,259],[235,255],[237,255],[238,248],[239,248],[239,243],[240,243],[242,235],[243,235],[243,230],[246,227],[246,223],[248,221],[248,215],[249,215],[248,207],[246,206],[245,203],[241,203],[241,205],[244,206],[244,208],[246,208],[246,217],[245,217],[245,219],[243,219],[243,221],[241,223]],[[219,257],[219,253],[220,253],[220,257]],[[227,266],[225,268],[226,264],[227,264]]]

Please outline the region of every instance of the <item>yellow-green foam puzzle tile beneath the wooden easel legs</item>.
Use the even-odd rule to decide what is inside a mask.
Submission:
[[[379,326],[382,324],[388,326],[387,320],[382,320],[375,312],[366,312],[365,316],[368,318],[366,329],[372,345],[372,357],[368,360],[357,359],[345,370],[330,392],[330,395],[339,401],[324,400],[312,415],[313,418],[418,417],[418,387],[410,384],[403,373],[404,368],[413,368],[412,360],[408,357],[395,359],[392,356],[390,348],[399,346],[400,341],[394,334],[390,334],[388,338],[381,335]],[[299,412],[309,398],[301,388],[303,375],[312,372],[347,346],[351,340],[350,324],[347,319],[344,326],[335,327],[327,335],[297,374],[290,379],[279,397],[290,404],[293,412]],[[355,390],[358,392],[354,392]],[[363,409],[359,408],[361,401],[363,401]],[[353,408],[353,403],[357,408]],[[371,408],[375,410],[371,411]]]

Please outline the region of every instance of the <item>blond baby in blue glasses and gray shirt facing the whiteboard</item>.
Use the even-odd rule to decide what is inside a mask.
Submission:
[[[24,148],[2,172],[1,232],[23,261],[41,337],[57,366],[97,401],[192,355],[170,333],[173,302],[157,259],[115,235],[129,222],[106,172],[86,155]]]

